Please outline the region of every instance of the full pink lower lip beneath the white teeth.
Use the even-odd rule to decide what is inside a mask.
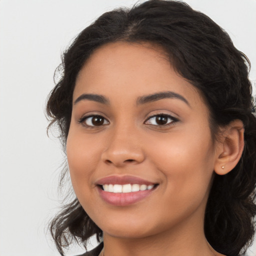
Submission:
[[[143,191],[128,192],[128,193],[113,193],[106,192],[98,187],[99,195],[109,204],[116,206],[126,206],[138,202],[149,196],[155,188]]]

